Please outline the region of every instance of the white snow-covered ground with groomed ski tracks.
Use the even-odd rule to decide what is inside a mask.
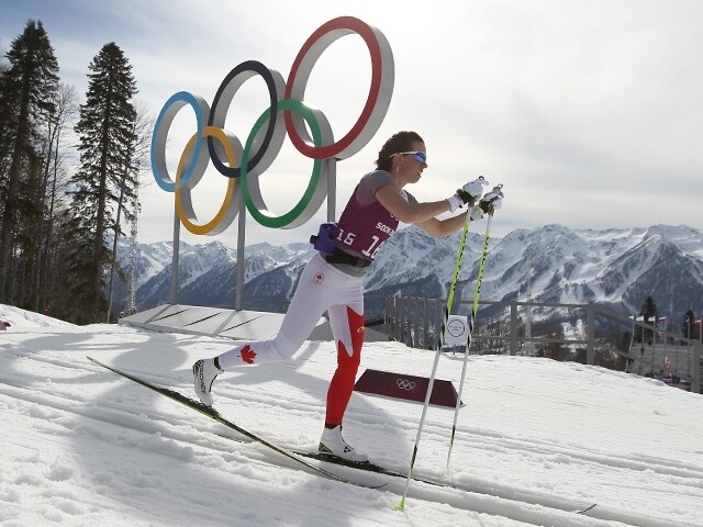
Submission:
[[[451,471],[454,411],[431,407],[415,474],[460,489],[330,466],[380,490],[313,474],[88,361],[192,395],[192,362],[231,340],[72,326],[0,305],[0,525],[703,526],[703,397],[579,363],[470,357]],[[367,344],[362,369],[428,375],[434,352]],[[462,357],[439,379],[458,388]],[[315,448],[332,343],[215,382],[220,412],[283,447]],[[408,470],[422,405],[355,393],[345,436]],[[585,515],[568,512],[598,502]]]

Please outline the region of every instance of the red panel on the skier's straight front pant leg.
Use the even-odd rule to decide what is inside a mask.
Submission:
[[[347,307],[347,319],[352,335],[352,357],[342,340],[337,343],[337,369],[334,372],[327,390],[327,414],[325,424],[341,425],[344,413],[354,392],[356,373],[361,361],[361,346],[364,345],[364,314],[358,314]]]

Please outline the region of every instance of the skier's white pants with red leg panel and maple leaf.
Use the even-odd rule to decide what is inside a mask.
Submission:
[[[290,360],[327,312],[337,345],[337,369],[327,391],[325,422],[341,425],[352,397],[364,344],[364,278],[315,255],[305,266],[281,328],[270,340],[243,343],[217,357],[220,368]]]

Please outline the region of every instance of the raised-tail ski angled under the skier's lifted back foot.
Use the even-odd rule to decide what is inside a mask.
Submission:
[[[136,382],[137,384],[143,385],[144,388],[148,388],[149,390],[153,390],[156,393],[160,393],[161,395],[165,395],[167,397],[169,397],[172,401],[176,401],[185,406],[188,406],[189,408],[192,408],[197,412],[200,412],[203,415],[207,415],[208,417],[210,417],[211,419],[216,421],[217,423],[221,423],[222,425],[226,426],[227,428],[231,428],[235,431],[237,431],[238,434],[242,434],[243,436],[252,439],[255,442],[258,442],[259,445],[263,445],[271,450],[274,450],[275,452],[292,460],[295,461],[297,463],[305,467],[306,469],[310,469],[311,471],[313,471],[316,474],[320,475],[324,475],[325,478],[328,478],[331,480],[335,480],[335,481],[339,481],[342,483],[347,483],[349,485],[354,485],[354,486],[361,486],[361,487],[366,487],[366,489],[381,489],[382,486],[386,486],[386,484],[382,485],[364,485],[361,483],[357,483],[355,481],[350,481],[347,480],[345,478],[341,478],[337,474],[334,474],[325,469],[322,469],[320,467],[314,466],[313,463],[310,463],[308,461],[305,461],[304,459],[301,459],[297,453],[291,452],[282,447],[279,447],[277,445],[274,445],[272,442],[264,439],[260,436],[257,436],[256,434],[247,430],[246,428],[242,428],[239,425],[236,425],[235,423],[231,422],[230,419],[227,419],[226,417],[222,416],[222,414],[220,414],[215,408],[213,408],[212,406],[205,406],[204,404],[202,404],[200,401],[196,401],[194,399],[190,399],[187,397],[186,395],[176,392],[175,390],[170,390],[168,388],[164,388],[160,386],[158,384],[154,384],[153,382],[146,381],[144,379],[141,379],[140,377],[133,375],[132,373],[127,373],[126,371],[120,370],[119,368],[115,368],[113,366],[110,365],[105,365],[104,362],[100,362],[98,359],[93,359],[92,357],[86,357],[88,360],[94,362],[98,366],[101,366],[102,368],[105,368],[119,375],[124,377],[125,379],[129,379],[133,382]]]

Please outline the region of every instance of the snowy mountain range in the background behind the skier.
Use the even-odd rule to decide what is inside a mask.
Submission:
[[[400,229],[369,268],[367,317],[383,312],[387,295],[446,298],[458,243],[459,233],[435,238],[413,226]],[[455,302],[473,298],[482,244],[483,233],[469,233]],[[243,307],[284,312],[313,254],[304,243],[246,247]],[[129,255],[124,240],[119,249],[123,269],[129,269]],[[171,258],[171,243],[138,245],[138,311],[170,302]],[[180,244],[179,303],[233,307],[235,276],[235,250],[220,242]],[[688,310],[696,315],[703,311],[703,231],[684,225],[606,231],[545,225],[489,240],[481,300],[595,302],[629,315],[640,311],[647,296],[659,315],[677,323]],[[115,299],[124,305],[125,284]]]

